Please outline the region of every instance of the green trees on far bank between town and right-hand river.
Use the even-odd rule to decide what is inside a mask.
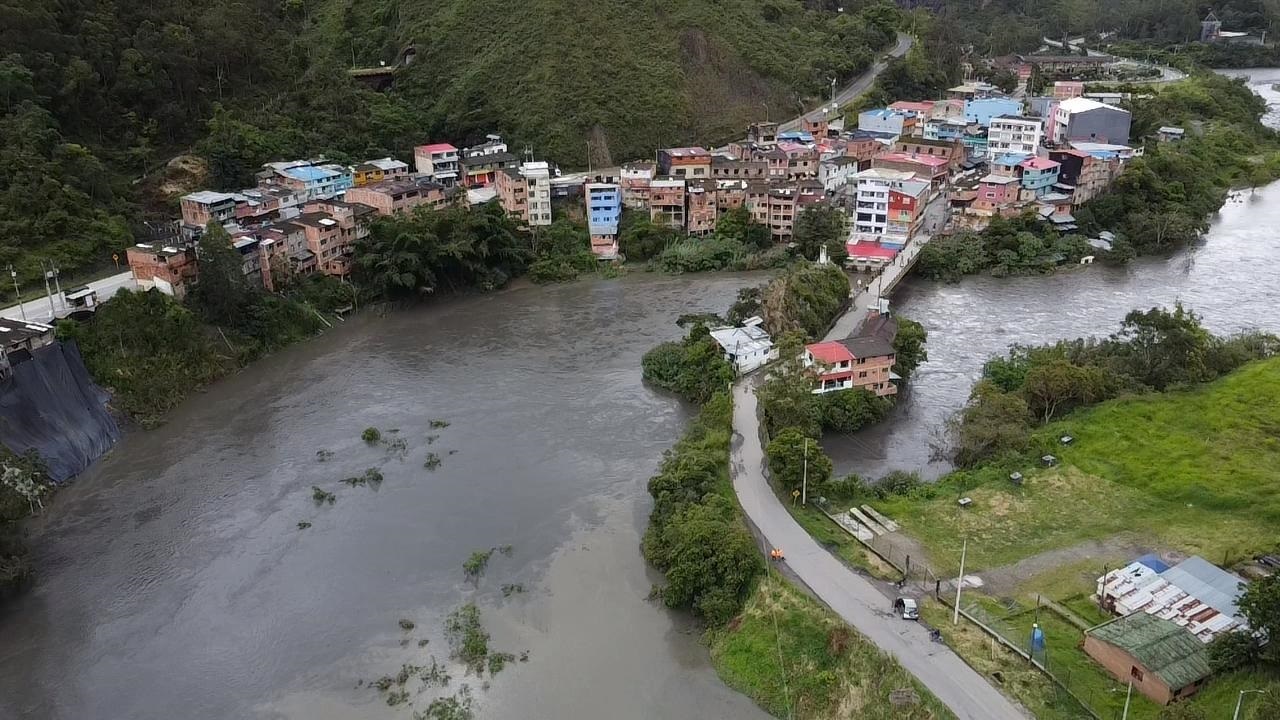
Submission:
[[[1167,252],[1194,242],[1231,188],[1280,177],[1280,137],[1262,126],[1266,102],[1243,81],[1201,73],[1144,92],[1151,96],[1129,104],[1134,138],[1149,137],[1166,124],[1203,129],[1184,142],[1147,143],[1146,154],[1130,160],[1106,192],[1074,213],[1080,236],[1059,236],[1033,215],[993,219],[982,232],[929,242],[916,272],[956,281],[984,270],[1051,272],[1084,255],[1124,263]],[[1115,232],[1110,251],[1084,242],[1100,231]]]

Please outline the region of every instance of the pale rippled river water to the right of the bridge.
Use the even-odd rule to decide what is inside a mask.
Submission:
[[[1228,70],[1262,95],[1265,122],[1280,127],[1280,69]],[[960,409],[982,364],[1011,345],[1106,336],[1134,309],[1184,305],[1217,333],[1280,332],[1280,183],[1228,201],[1202,242],[1128,268],[1073,268],[1050,277],[972,277],[956,284],[909,278],[891,307],[924,324],[920,365],[890,418],[865,430],[828,434],[823,447],[840,473],[879,478],[890,470],[937,477],[941,428]],[[945,445],[945,443],[941,443]]]

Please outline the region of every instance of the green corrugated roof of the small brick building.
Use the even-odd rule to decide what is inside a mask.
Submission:
[[[1140,610],[1088,634],[1124,650],[1174,691],[1212,673],[1204,643],[1185,628]]]

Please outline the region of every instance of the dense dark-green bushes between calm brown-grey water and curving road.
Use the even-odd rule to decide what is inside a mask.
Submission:
[[[728,479],[731,425],[730,397],[717,392],[649,479],[644,556],[667,575],[657,592],[712,625],[737,614],[763,570]]]

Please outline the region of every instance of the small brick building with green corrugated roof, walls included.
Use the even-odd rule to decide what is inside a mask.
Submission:
[[[1084,633],[1084,652],[1158,705],[1194,694],[1212,674],[1208,650],[1184,628],[1134,612]]]

